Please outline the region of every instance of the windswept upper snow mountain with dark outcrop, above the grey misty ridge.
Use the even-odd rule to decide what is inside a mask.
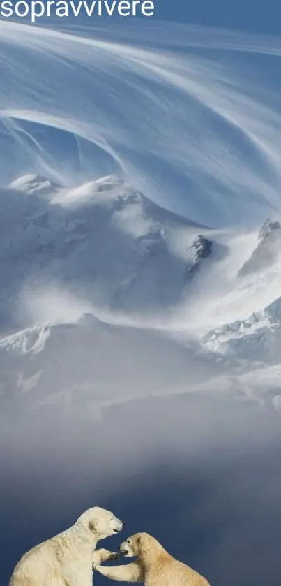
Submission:
[[[78,315],[118,312],[192,336],[280,295],[280,229],[208,230],[114,176],[68,188],[25,175],[0,193],[2,332],[69,319],[47,301],[60,288]]]

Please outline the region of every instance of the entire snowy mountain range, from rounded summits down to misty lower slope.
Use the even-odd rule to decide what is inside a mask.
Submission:
[[[266,286],[272,272],[279,279],[278,222],[243,235],[241,247],[241,235],[196,226],[114,176],[67,188],[25,175],[1,188],[0,202],[2,401],[64,413],[79,396],[94,415],[146,396],[148,384],[150,395],[182,393],[278,364],[280,281]],[[241,261],[251,270],[236,270]],[[258,289],[257,309],[240,318],[259,279],[273,301],[263,309]],[[231,303],[237,319],[227,323]],[[216,312],[222,325],[208,331]]]

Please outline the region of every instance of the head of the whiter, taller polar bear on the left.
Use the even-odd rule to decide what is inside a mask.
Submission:
[[[94,506],[85,511],[77,519],[75,525],[83,527],[86,532],[93,535],[96,541],[100,541],[100,539],[105,539],[114,533],[119,533],[123,529],[124,523],[115,517],[111,511]]]

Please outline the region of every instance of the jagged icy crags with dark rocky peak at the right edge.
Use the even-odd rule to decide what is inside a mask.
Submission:
[[[238,270],[236,281],[237,288],[248,294],[256,290],[257,297],[250,299],[250,305],[259,302],[259,307],[247,318],[238,318],[208,331],[202,338],[202,346],[206,349],[243,360],[280,362],[280,244],[280,223],[266,220],[256,235],[249,258]],[[273,299],[266,307],[262,306],[264,291]],[[245,310],[244,305],[241,314],[245,314]]]

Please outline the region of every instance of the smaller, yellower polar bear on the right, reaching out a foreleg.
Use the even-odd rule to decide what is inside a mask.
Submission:
[[[121,543],[121,553],[137,556],[126,566],[103,567],[93,564],[103,576],[124,582],[144,582],[145,586],[210,586],[206,578],[185,566],[148,533],[136,533]]]

